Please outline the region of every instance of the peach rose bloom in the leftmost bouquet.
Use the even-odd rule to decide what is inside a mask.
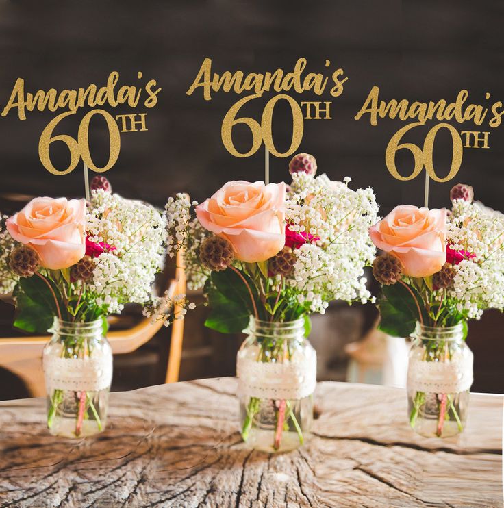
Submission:
[[[68,268],[86,251],[86,200],[35,198],[6,221],[10,236],[30,246],[44,268]]]

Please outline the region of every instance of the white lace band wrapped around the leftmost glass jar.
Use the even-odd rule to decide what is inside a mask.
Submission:
[[[97,392],[112,383],[112,353],[96,357],[60,358],[45,354],[42,358],[47,390]]]

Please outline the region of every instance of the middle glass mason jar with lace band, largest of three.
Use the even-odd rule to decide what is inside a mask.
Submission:
[[[242,438],[257,450],[294,450],[310,431],[316,386],[316,352],[305,339],[305,320],[251,319],[244,333],[236,359]]]

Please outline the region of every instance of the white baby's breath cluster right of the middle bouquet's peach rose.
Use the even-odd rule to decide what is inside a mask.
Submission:
[[[375,258],[368,229],[377,221],[378,206],[370,188],[351,190],[327,175],[297,173],[286,202],[286,220],[295,232],[308,231],[314,243],[294,250],[297,261],[288,283],[310,312],[323,314],[329,301],[371,299],[364,268]]]

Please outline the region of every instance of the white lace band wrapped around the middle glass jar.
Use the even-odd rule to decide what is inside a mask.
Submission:
[[[236,358],[238,396],[295,400],[315,391],[317,355],[312,346],[284,363],[253,361],[240,353]]]

